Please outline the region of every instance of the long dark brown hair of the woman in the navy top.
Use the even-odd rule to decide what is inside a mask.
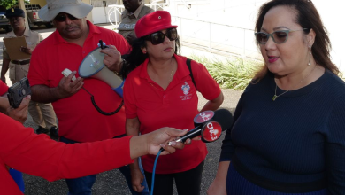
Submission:
[[[311,48],[311,53],[316,63],[334,74],[339,74],[338,67],[334,65],[330,58],[332,45],[327,35],[326,27],[324,27],[318,11],[311,0],[272,0],[263,4],[257,13],[256,32],[260,32],[266,13],[278,6],[287,6],[296,13],[295,22],[307,29],[304,30],[305,35],[308,35],[310,30],[313,29],[316,37],[313,47]],[[257,43],[257,45],[259,45],[259,43]],[[255,75],[254,80],[259,81],[267,72],[267,66],[263,66]]]

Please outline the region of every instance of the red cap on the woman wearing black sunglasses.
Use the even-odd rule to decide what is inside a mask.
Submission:
[[[173,27],[177,26],[172,25],[172,18],[169,12],[156,11],[151,12],[138,20],[135,24],[134,31],[136,37],[140,38],[142,36]]]

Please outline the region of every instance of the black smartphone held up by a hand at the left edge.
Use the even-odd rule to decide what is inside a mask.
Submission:
[[[24,77],[8,89],[7,98],[13,108],[18,108],[27,95],[31,95],[31,89],[27,77]]]

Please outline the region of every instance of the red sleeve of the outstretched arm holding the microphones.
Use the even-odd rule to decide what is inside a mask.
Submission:
[[[133,163],[131,136],[103,142],[65,144],[36,135],[18,121],[0,113],[0,194],[23,194],[5,167],[48,181],[93,175]],[[121,157],[121,158],[119,158]]]

